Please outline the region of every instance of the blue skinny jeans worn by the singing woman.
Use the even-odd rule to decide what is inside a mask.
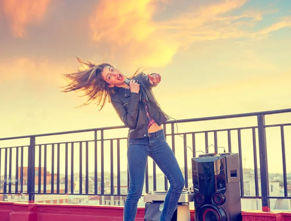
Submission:
[[[141,198],[146,172],[147,156],[150,156],[166,175],[170,188],[166,194],[160,221],[170,221],[185,185],[177,159],[166,142],[163,130],[148,137],[129,139],[128,147],[129,192],[124,205],[124,221],[134,221],[137,204]]]

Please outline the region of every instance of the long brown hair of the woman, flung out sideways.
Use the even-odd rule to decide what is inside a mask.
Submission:
[[[84,62],[80,58],[77,59],[82,68],[75,73],[63,74],[68,85],[65,85],[62,91],[84,92],[81,97],[87,97],[87,102],[78,107],[95,102],[100,107],[99,110],[101,110],[105,106],[106,101],[111,102],[110,97],[115,93],[115,87],[109,87],[109,84],[103,80],[101,73],[107,66],[114,67],[107,63],[96,65],[91,62]],[[139,69],[136,70],[133,76],[138,73]]]

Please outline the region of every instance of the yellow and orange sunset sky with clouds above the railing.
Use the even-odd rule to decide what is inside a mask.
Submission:
[[[0,0],[0,137],[122,125],[110,103],[61,92],[76,57],[160,73],[175,119],[290,108],[290,15],[290,0]]]

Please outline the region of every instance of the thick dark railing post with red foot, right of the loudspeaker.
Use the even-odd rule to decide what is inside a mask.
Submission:
[[[258,119],[258,135],[259,135],[259,164],[260,164],[260,179],[262,193],[262,211],[270,211],[269,199],[269,176],[268,176],[268,156],[266,144],[266,129],[265,116],[260,114]]]

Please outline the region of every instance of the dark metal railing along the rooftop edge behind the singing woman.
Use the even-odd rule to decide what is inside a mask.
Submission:
[[[261,199],[262,201],[262,210],[269,211],[270,210],[270,199],[291,199],[291,196],[288,196],[288,180],[287,180],[287,169],[286,169],[286,153],[285,153],[285,137],[284,129],[288,126],[291,126],[291,122],[284,122],[279,124],[271,124],[265,125],[265,116],[268,115],[276,115],[283,113],[291,113],[291,109],[283,109],[283,110],[275,110],[275,111],[264,111],[264,112],[256,112],[256,113],[246,113],[246,114],[235,114],[235,115],[226,115],[226,116],[216,116],[216,117],[207,117],[207,118],[196,118],[196,119],[181,119],[174,121],[167,121],[163,125],[164,133],[167,137],[167,142],[172,147],[173,152],[183,152],[184,158],[184,176],[185,176],[185,187],[191,187],[193,184],[188,183],[188,176],[191,176],[191,170],[189,172],[188,161],[192,157],[196,157],[196,152],[198,152],[198,148],[201,147],[201,144],[197,142],[197,136],[204,134],[204,142],[203,146],[205,149],[202,152],[209,152],[209,143],[210,139],[213,140],[214,151],[218,153],[220,150],[218,149],[218,138],[222,133],[226,134],[225,142],[227,143],[227,151],[233,152],[233,144],[237,143],[237,149],[240,158],[240,179],[241,179],[241,197],[242,198],[252,198],[252,199]],[[231,128],[218,128],[218,129],[210,129],[210,130],[193,130],[189,129],[186,132],[178,133],[178,125],[185,125],[187,123],[194,122],[203,122],[206,124],[206,121],[212,120],[220,120],[224,121],[227,119],[242,119],[242,118],[251,118],[254,120],[255,125],[253,126],[243,126],[243,127],[231,127]],[[290,120],[291,121],[291,120]],[[175,131],[175,124],[177,124],[177,130]],[[180,126],[179,126],[180,127]],[[268,178],[268,157],[267,157],[267,145],[266,145],[266,128],[279,128],[280,130],[280,140],[281,140],[281,152],[282,152],[282,162],[283,162],[283,185],[284,185],[284,196],[275,196],[271,197],[269,195],[269,178]],[[171,130],[168,133],[168,130]],[[72,195],[118,195],[123,196],[125,194],[121,194],[121,151],[126,151],[127,146],[127,137],[126,136],[116,136],[116,134],[126,134],[127,130],[124,126],[116,126],[116,127],[103,127],[103,128],[94,128],[94,129],[86,129],[86,130],[78,130],[78,131],[67,131],[60,133],[50,133],[50,134],[39,134],[32,136],[17,136],[17,137],[7,137],[0,138],[1,142],[12,141],[12,140],[27,140],[29,139],[28,145],[17,145],[17,146],[9,146],[9,147],[0,147],[0,194],[16,194],[16,193],[26,193],[29,195],[29,202],[34,202],[35,194],[72,194]],[[253,168],[254,168],[254,180],[255,180],[255,195],[254,196],[245,196],[244,194],[244,182],[243,182],[243,159],[242,159],[242,131],[249,130],[251,131],[251,140],[252,140],[252,157],[253,157]],[[117,131],[117,132],[116,132]],[[119,133],[120,132],[120,133]],[[81,140],[66,140],[62,142],[45,142],[36,143],[36,139],[40,139],[41,137],[52,137],[52,136],[65,136],[65,135],[73,135],[76,136],[80,133],[89,133],[91,137],[89,139],[81,139]],[[92,135],[93,133],[93,135]],[[104,134],[109,134],[109,137],[105,137]],[[237,135],[237,139],[234,139],[233,133]],[[213,134],[213,137],[210,135]],[[114,137],[114,136],[116,137]],[[182,136],[183,140],[179,142],[177,145],[178,136]],[[189,139],[190,137],[190,139]],[[74,138],[75,139],[75,138]],[[110,143],[107,146],[110,146],[110,156],[105,157],[105,143]],[[123,143],[123,145],[121,145]],[[189,144],[190,143],[190,144]],[[201,142],[200,142],[201,143]],[[258,146],[257,146],[258,143]],[[197,145],[198,144],[198,145]],[[76,146],[79,146],[79,152],[76,152]],[[90,146],[90,148],[89,148]],[[121,148],[123,146],[123,148]],[[178,147],[177,147],[178,146]],[[226,145],[225,145],[226,146]],[[193,153],[189,155],[187,153],[187,147],[191,147]],[[48,148],[50,151],[48,151]],[[90,149],[90,153],[89,153]],[[115,151],[113,149],[116,149]],[[64,156],[60,157],[60,151],[64,152]],[[92,151],[91,151],[92,150]],[[94,150],[94,152],[93,152]],[[36,154],[38,152],[38,155]],[[55,153],[56,151],[56,153]],[[258,169],[258,153],[259,151],[259,169]],[[20,153],[19,153],[20,152]],[[50,153],[50,158],[48,157],[48,152]],[[85,157],[83,157],[83,152]],[[94,153],[94,154],[93,154]],[[20,158],[19,158],[20,154]],[[9,160],[8,160],[9,155]],[[56,159],[55,159],[56,155]],[[69,157],[70,155],[70,157]],[[79,155],[79,160],[75,160],[76,156]],[[98,156],[97,156],[98,155]],[[12,158],[12,156],[14,156]],[[114,160],[114,157],[116,158]],[[65,159],[64,159],[65,158]],[[83,158],[85,158],[85,176],[83,178]],[[94,192],[89,191],[89,158],[94,159],[94,171],[93,171],[93,180],[94,180]],[[2,159],[2,160],[1,160]],[[3,161],[4,159],[4,161]],[[24,161],[27,159],[27,163]],[[70,160],[70,164],[69,164]],[[50,167],[47,165],[50,161]],[[64,168],[61,167],[61,161],[65,165]],[[64,162],[65,161],[65,162]],[[105,177],[104,177],[104,164],[105,161],[110,161],[110,193],[105,194]],[[14,164],[15,163],[15,164]],[[19,165],[20,163],[20,165]],[[38,168],[35,167],[35,163],[38,163]],[[74,175],[74,164],[79,164],[79,192],[76,193],[74,188],[74,179],[76,175]],[[43,164],[43,166],[42,166]],[[55,168],[56,164],[56,168]],[[15,165],[15,172],[12,171],[12,168]],[[25,166],[27,165],[27,175],[26,171],[24,171]],[[100,168],[98,167],[100,165]],[[1,174],[1,167],[4,166],[4,176]],[[114,166],[117,171],[117,177],[114,178]],[[157,169],[156,164],[153,162],[153,173],[152,173],[152,185],[153,190],[157,190]],[[69,171],[70,169],[70,176]],[[98,169],[97,169],[98,168]],[[42,170],[43,169],[43,170]],[[55,170],[56,169],[56,170]],[[50,171],[49,171],[50,170]],[[64,191],[60,191],[60,174],[61,170],[65,173],[65,189]],[[100,170],[98,173],[97,170]],[[37,171],[37,174],[35,174]],[[43,171],[43,172],[42,172]],[[43,173],[43,174],[42,174]],[[55,176],[56,175],[56,176]],[[2,176],[2,180],[1,180]],[[26,185],[24,183],[25,177],[27,176],[27,191],[23,190],[23,186]],[[15,182],[13,182],[13,177],[15,177]],[[50,191],[47,190],[49,184],[47,179],[50,178]],[[35,178],[37,178],[37,186],[38,191],[35,191]],[[8,179],[8,180],[7,180]],[[56,181],[55,181],[56,179]],[[115,179],[115,181],[114,181]],[[117,180],[116,180],[117,179]],[[149,191],[149,170],[148,165],[146,167],[146,192]],[[83,180],[85,180],[84,192],[83,189]],[[259,191],[259,180],[260,180],[260,190]],[[117,191],[114,191],[114,184],[117,187]],[[129,174],[127,175],[127,183],[129,186]],[[99,184],[99,185],[98,185]],[[15,185],[15,189],[12,189],[12,186]],[[8,186],[8,190],[7,190]],[[56,186],[56,191],[55,191]],[[18,188],[20,187],[20,188]],[[70,189],[69,189],[70,187]],[[167,179],[164,178],[164,189],[168,189]],[[261,192],[261,194],[259,194]]]

